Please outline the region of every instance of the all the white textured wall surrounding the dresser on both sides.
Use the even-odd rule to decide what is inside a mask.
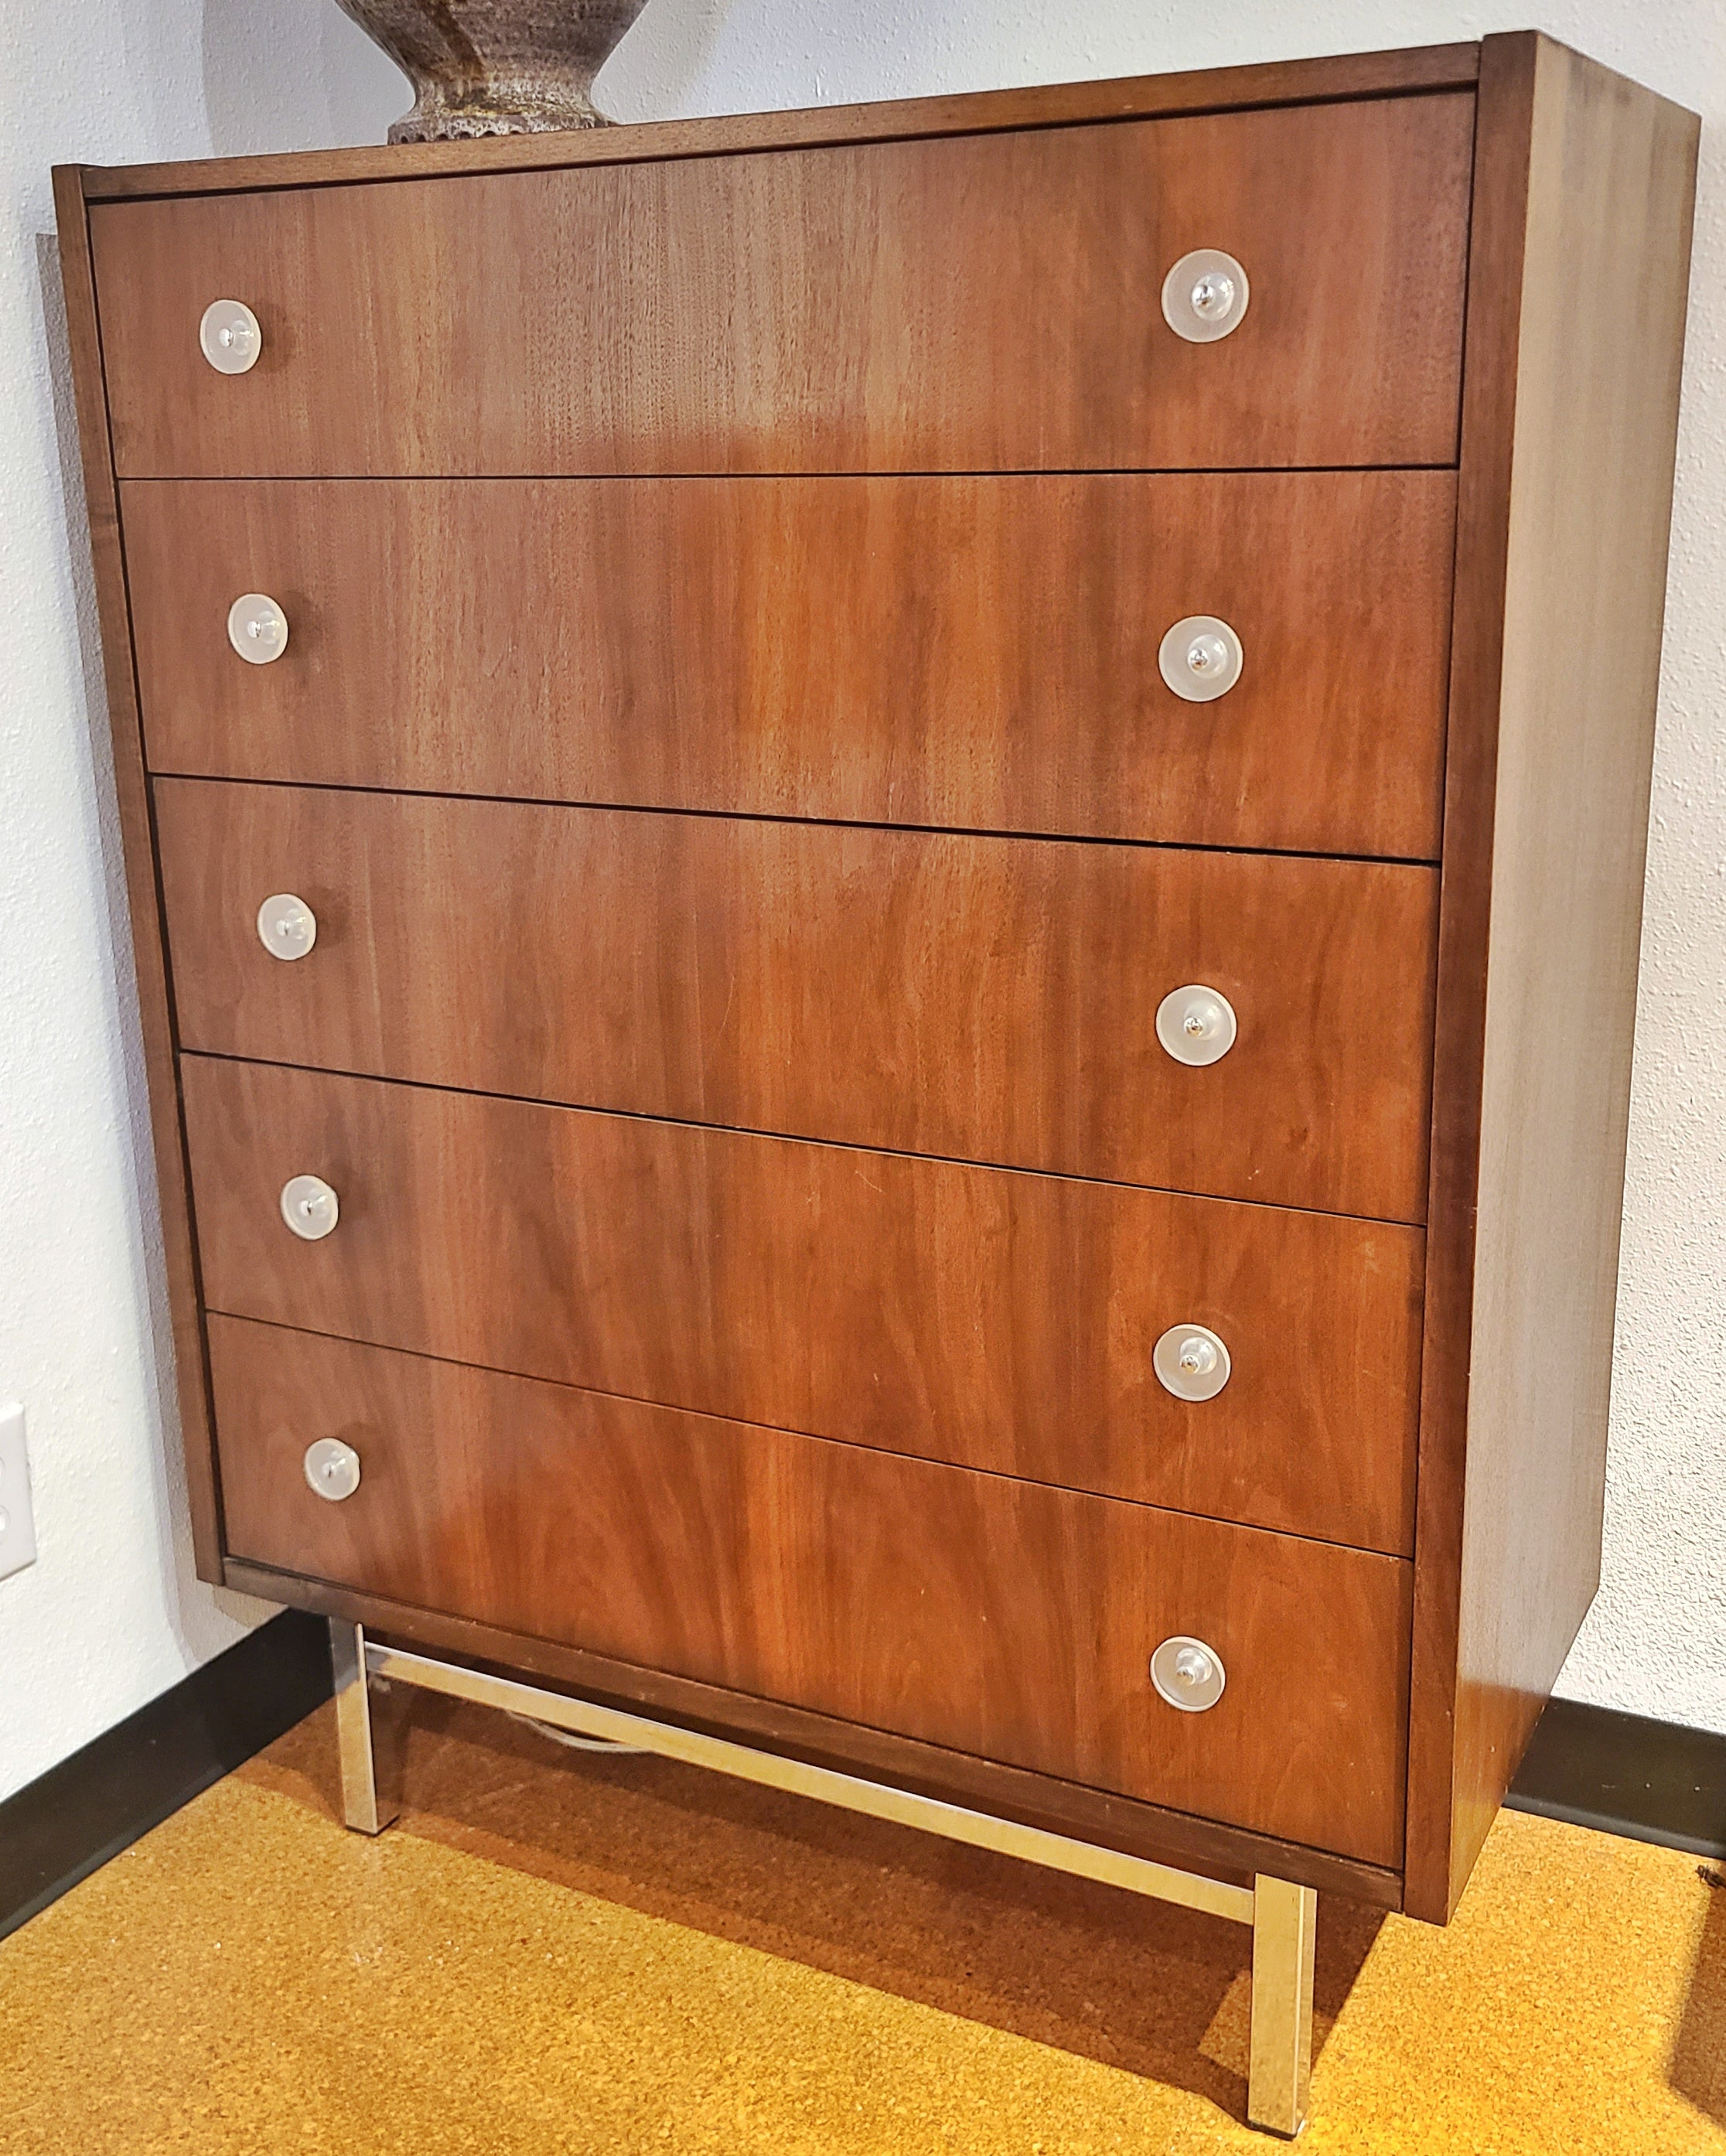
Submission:
[[[1515,4],[651,0],[616,119],[914,97],[1523,28]],[[1648,858],[1605,1580],[1562,1690],[1726,1731],[1726,9],[1549,0],[1700,110],[1702,188]],[[47,166],[379,140],[405,86],[330,0],[9,0],[0,19],[0,1397],[41,1561],[0,1583],[0,1794],[261,1615],[192,1580]],[[71,496],[75,500],[75,496]],[[142,1192],[142,1197],[140,1197]]]

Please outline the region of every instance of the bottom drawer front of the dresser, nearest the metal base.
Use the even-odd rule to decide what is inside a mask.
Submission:
[[[213,1317],[237,1557],[1401,1865],[1409,1567]],[[315,1496],[340,1438],[360,1485]],[[1170,1708],[1170,1634],[1222,1699]]]

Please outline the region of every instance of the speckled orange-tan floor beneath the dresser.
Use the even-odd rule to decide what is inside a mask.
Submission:
[[[401,1703],[399,1703],[401,1705]],[[4,2156],[1198,2156],[1250,1936],[416,1697],[330,1710],[0,1943]],[[1310,2156],[1726,2156],[1726,1889],[1504,1813],[1439,1932],[1323,1902]]]

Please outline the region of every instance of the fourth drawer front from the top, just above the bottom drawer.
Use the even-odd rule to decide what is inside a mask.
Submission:
[[[1422,1238],[185,1056],[209,1309],[1405,1552]],[[295,1175],[338,1194],[302,1242]],[[1200,1324],[1224,1388],[1153,1350]]]

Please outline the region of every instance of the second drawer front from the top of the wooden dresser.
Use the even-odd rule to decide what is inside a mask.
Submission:
[[[1437,856],[1450,472],[151,481],[123,524],[159,772]],[[1194,614],[1243,653],[1207,703],[1157,666]]]

